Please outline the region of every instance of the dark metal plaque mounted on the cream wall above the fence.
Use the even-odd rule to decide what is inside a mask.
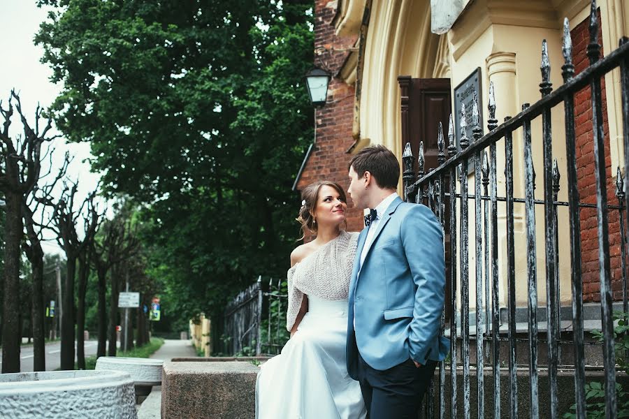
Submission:
[[[481,69],[478,67],[472,74],[468,75],[461,84],[458,84],[457,87],[454,88],[454,129],[455,129],[455,138],[456,138],[456,149],[461,150],[461,145],[459,142],[461,140],[461,104],[465,103],[465,121],[468,123],[468,126],[465,130],[465,135],[468,137],[468,141],[471,143],[474,141],[474,137],[472,136],[472,101],[474,99],[474,92],[477,92],[478,96],[478,124],[482,128],[483,127],[483,105],[482,105],[482,90],[481,90]],[[474,161],[470,159],[468,162],[469,171],[474,170]]]

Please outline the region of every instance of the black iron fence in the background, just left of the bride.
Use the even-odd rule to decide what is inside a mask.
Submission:
[[[286,279],[263,279],[227,305],[224,319],[226,355],[277,355],[289,338],[286,330]]]

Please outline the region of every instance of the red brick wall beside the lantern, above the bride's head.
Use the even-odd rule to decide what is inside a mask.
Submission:
[[[335,27],[331,21],[336,13],[336,6],[336,1],[315,1],[315,50],[317,47],[326,48],[319,57],[333,74],[338,71],[349,54],[347,51],[338,50],[352,47],[356,43],[356,37],[335,36]],[[320,65],[316,55],[315,64]],[[328,88],[328,103],[315,110],[315,118],[317,142],[305,164],[297,189],[301,191],[317,180],[332,180],[338,182],[347,192],[349,186],[347,163],[351,159],[347,149],[354,144],[352,138],[354,87],[333,78]],[[347,200],[347,230],[360,231],[363,228],[363,212],[354,207],[349,196]],[[309,238],[307,237],[307,240]]]

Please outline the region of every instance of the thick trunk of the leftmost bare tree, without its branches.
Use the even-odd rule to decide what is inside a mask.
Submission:
[[[6,222],[4,230],[4,295],[2,307],[2,373],[20,372],[20,242],[22,197],[5,194]]]

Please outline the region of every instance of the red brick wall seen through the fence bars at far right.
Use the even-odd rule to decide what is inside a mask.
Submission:
[[[600,21],[600,16],[599,16]],[[579,74],[588,67],[587,46],[589,43],[589,17],[572,29],[572,60],[574,72]],[[598,37],[602,40],[599,27]],[[601,42],[601,41],[599,41]],[[601,50],[602,56],[602,50]],[[603,131],[605,133],[605,172],[607,178],[607,203],[617,205],[616,168],[612,168],[609,154],[609,125],[607,123],[607,99],[605,97],[605,79],[601,80]],[[594,138],[592,130],[591,91],[587,87],[579,91],[574,98],[575,135],[577,139],[577,185],[581,203],[596,203],[596,184],[594,177]],[[613,177],[612,177],[613,175]],[[598,230],[597,210],[581,209],[581,268],[583,270],[583,294],[585,302],[600,301],[600,280],[598,265]],[[621,237],[619,214],[609,210],[609,251],[612,267],[612,292],[614,300],[622,299]],[[566,255],[567,257],[567,255]]]

